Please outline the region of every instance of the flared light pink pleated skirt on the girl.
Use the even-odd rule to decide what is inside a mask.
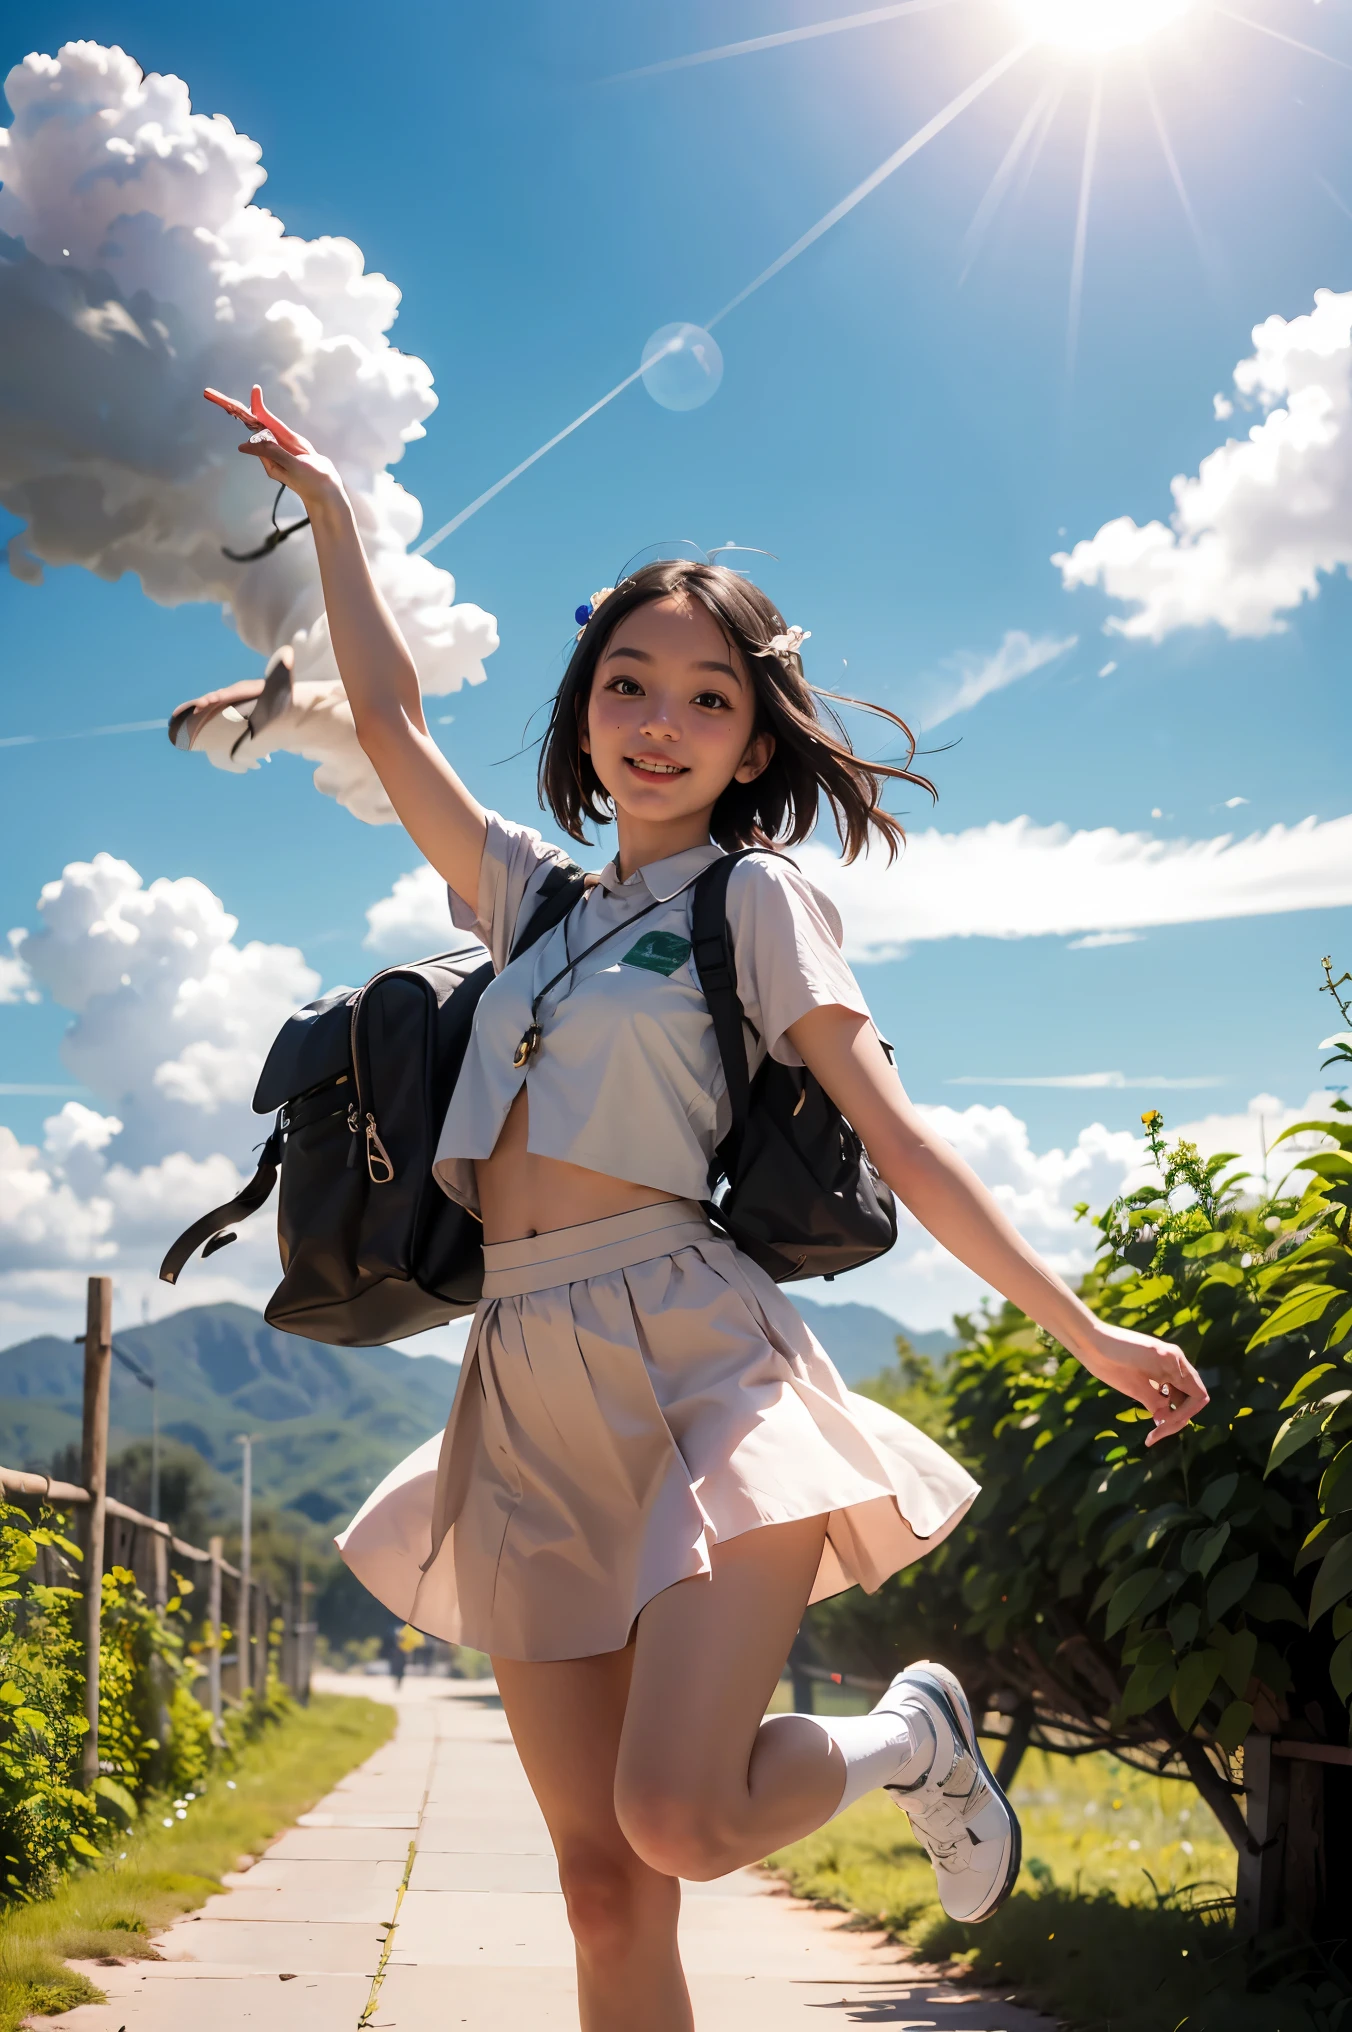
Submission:
[[[870,1593],[978,1494],[846,1390],[779,1286],[691,1201],[484,1248],[445,1433],[337,1548],[394,1615],[500,1658],[620,1650],[710,1548],[827,1516],[813,1601]]]

